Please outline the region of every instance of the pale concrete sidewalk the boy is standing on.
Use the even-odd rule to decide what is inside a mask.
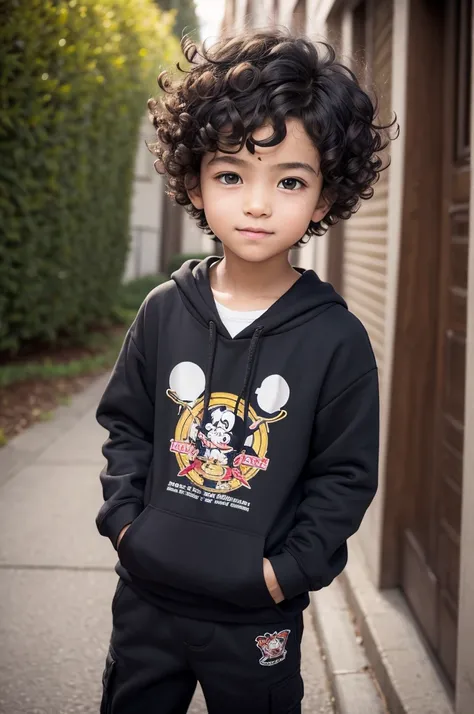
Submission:
[[[53,421],[0,450],[0,712],[98,714],[117,582],[116,555],[95,517],[106,433],[100,378]],[[305,613],[305,714],[333,712]],[[204,714],[200,691],[190,714]]]

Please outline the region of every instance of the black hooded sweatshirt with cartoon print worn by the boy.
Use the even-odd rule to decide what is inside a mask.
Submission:
[[[170,611],[273,622],[347,561],[377,488],[370,342],[311,271],[232,339],[189,261],[153,290],[97,410],[110,432],[97,527],[116,571]],[[263,577],[270,559],[285,600]]]

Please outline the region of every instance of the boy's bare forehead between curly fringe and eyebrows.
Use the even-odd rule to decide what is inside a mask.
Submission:
[[[259,161],[262,164],[266,162],[283,163],[289,161],[304,161],[313,164],[315,168],[319,165],[319,153],[310,139],[306,130],[299,119],[287,119],[286,136],[279,144],[275,146],[257,146],[255,145],[255,153],[251,154],[246,146],[239,152],[234,153],[234,156],[245,158],[253,163]],[[262,141],[269,138],[273,134],[273,127],[266,123],[258,127],[253,132],[253,137],[257,141]],[[209,152],[206,156],[206,162],[212,160],[216,156],[226,156],[224,152],[217,151]]]

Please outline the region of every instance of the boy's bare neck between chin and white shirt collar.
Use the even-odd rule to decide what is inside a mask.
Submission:
[[[211,271],[211,285],[214,290],[235,298],[275,299],[289,290],[299,277],[286,252],[263,263],[250,263],[226,250],[223,260]]]

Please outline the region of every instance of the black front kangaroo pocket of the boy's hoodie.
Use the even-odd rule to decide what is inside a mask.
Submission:
[[[148,505],[119,546],[132,574],[242,607],[275,603],[263,577],[264,537]]]

